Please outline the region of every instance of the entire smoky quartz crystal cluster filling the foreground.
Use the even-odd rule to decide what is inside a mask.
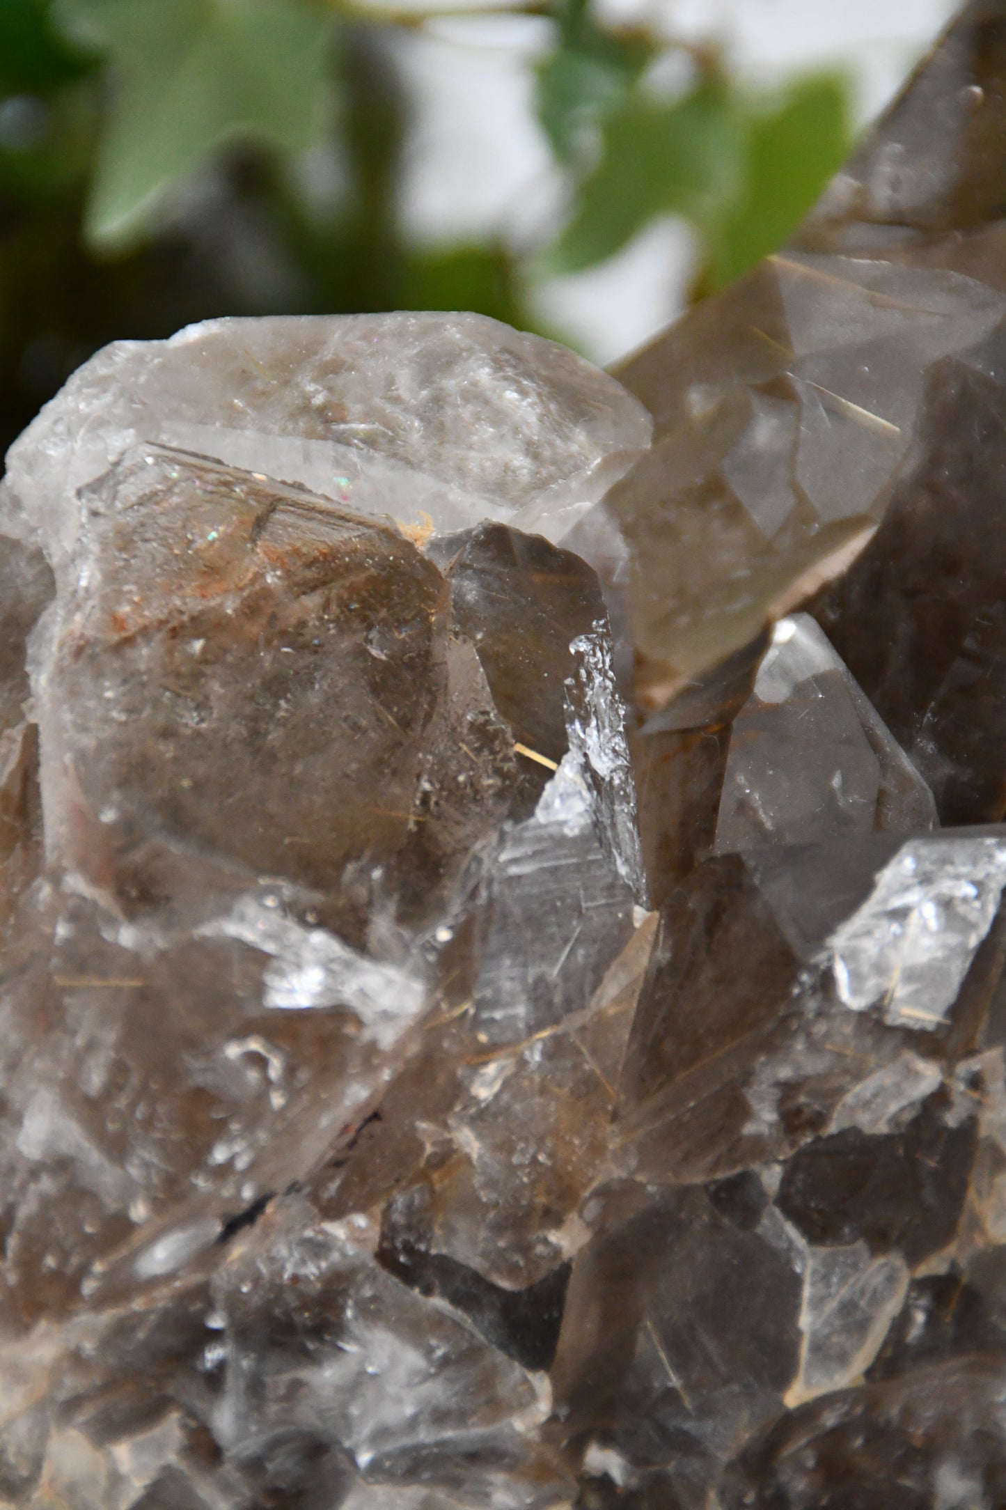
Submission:
[[[1006,1504],[1003,101],[976,0],[621,382],[225,320],[15,444],[0,1505]]]

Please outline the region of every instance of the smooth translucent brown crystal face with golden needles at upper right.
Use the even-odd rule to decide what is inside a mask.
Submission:
[[[1004,316],[952,266],[789,251],[621,370],[656,418],[609,498],[647,708],[863,548],[917,447],[944,441],[928,411],[947,359]]]

